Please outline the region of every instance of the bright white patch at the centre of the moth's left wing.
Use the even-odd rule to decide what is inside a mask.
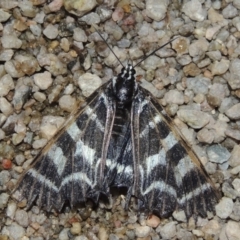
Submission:
[[[74,156],[82,156],[83,159],[89,163],[89,165],[93,165],[94,158],[95,158],[96,151],[87,145],[84,145],[84,143],[81,140],[78,140],[76,143],[76,151]]]

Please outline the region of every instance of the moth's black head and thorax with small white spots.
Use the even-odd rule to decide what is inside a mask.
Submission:
[[[135,95],[135,74],[136,71],[134,67],[128,64],[126,67],[123,67],[121,73],[112,80],[113,92],[120,105],[125,106],[129,104]]]

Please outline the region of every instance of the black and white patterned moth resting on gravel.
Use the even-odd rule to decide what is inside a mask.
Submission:
[[[204,167],[135,74],[123,67],[40,151],[16,187],[28,206],[61,210],[126,187],[126,202],[134,196],[150,214],[214,211],[218,193]]]

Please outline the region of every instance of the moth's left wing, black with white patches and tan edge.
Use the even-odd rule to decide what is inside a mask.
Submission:
[[[47,210],[61,209],[91,198],[108,195],[104,180],[106,152],[109,145],[114,103],[110,84],[90,97],[54,139],[38,154],[16,187],[28,206],[34,200]]]

